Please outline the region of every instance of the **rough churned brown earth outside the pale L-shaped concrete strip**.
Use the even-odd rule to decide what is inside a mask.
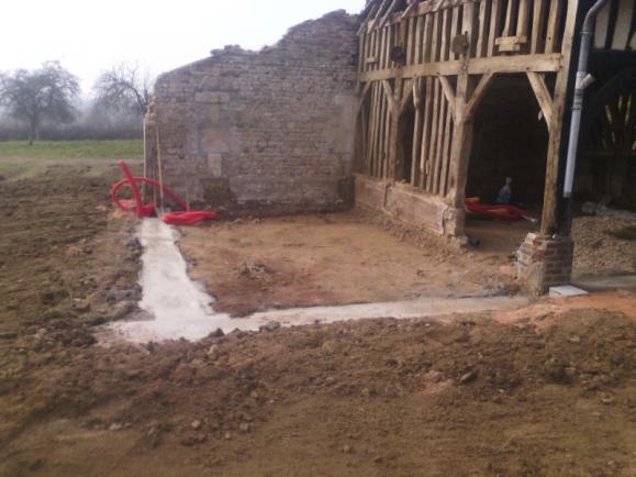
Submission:
[[[0,181],[1,476],[636,475],[636,291],[103,348],[138,295],[114,176]]]

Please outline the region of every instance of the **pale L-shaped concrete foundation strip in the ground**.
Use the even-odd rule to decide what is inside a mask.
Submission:
[[[188,277],[188,265],[176,244],[176,229],[158,219],[147,219],[140,224],[137,236],[144,247],[141,277],[143,297],[140,308],[144,310],[145,318],[110,325],[114,337],[133,343],[181,337],[197,341],[217,329],[225,333],[236,329],[255,331],[272,321],[283,326],[294,326],[372,318],[410,319],[509,311],[528,304],[525,297],[421,298],[389,303],[272,310],[233,319],[228,314],[214,312],[214,299],[204,291],[201,284]]]

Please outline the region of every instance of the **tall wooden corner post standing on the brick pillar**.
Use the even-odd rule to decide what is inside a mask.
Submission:
[[[561,46],[561,54],[564,59],[561,62],[561,70],[557,74],[555,96],[553,100],[551,124],[549,126],[550,135],[546,165],[546,188],[540,229],[542,235],[545,236],[551,235],[557,231],[559,159],[561,152],[564,114],[566,110],[568,92],[568,79],[570,76],[570,58],[572,55],[572,43],[574,40],[578,8],[578,0],[568,0],[568,16],[566,20],[566,30],[564,33],[564,43]],[[551,15],[553,12],[550,12],[550,16]]]

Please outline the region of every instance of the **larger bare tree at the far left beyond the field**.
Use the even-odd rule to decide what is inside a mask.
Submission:
[[[47,62],[33,71],[19,69],[0,75],[0,104],[10,117],[26,123],[30,145],[38,138],[44,121],[67,124],[74,120],[78,95],[77,77],[58,62]]]

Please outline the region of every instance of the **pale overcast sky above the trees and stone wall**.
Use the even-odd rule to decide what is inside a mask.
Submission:
[[[157,75],[227,44],[258,49],[304,20],[358,13],[365,0],[7,0],[0,7],[0,70],[57,59],[88,93],[122,62]]]

